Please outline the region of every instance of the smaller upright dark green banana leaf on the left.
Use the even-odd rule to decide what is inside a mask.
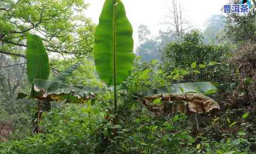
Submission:
[[[47,80],[50,73],[49,58],[39,36],[28,35],[26,57],[29,82],[33,84],[34,79]]]

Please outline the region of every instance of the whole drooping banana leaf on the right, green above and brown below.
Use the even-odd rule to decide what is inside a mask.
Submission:
[[[140,101],[148,110],[158,114],[187,111],[208,113],[220,107],[218,102],[204,95],[216,91],[211,82],[178,83],[150,90]],[[153,104],[156,99],[160,100],[158,105]]]

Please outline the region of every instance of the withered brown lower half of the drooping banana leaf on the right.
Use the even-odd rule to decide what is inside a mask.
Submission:
[[[155,100],[160,102],[157,105],[153,104]],[[140,101],[148,110],[156,114],[209,113],[220,109],[218,102],[201,93],[165,93],[147,96]]]

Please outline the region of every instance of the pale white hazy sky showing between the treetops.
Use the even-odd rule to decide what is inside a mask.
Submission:
[[[98,23],[98,18],[105,0],[84,0],[90,3],[86,16]],[[140,24],[149,27],[153,35],[160,29],[165,30],[165,15],[168,14],[168,4],[172,0],[122,0],[126,14],[134,29],[134,39],[137,41],[137,29]],[[206,20],[211,15],[221,14],[221,7],[227,0],[178,0],[183,4],[185,18],[190,21],[193,28],[203,29]],[[195,3],[196,2],[196,3]]]

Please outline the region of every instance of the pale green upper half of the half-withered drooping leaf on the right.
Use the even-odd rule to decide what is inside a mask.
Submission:
[[[160,87],[149,90],[147,95],[157,95],[163,93],[203,93],[210,94],[217,91],[211,82],[178,83],[168,87]]]

